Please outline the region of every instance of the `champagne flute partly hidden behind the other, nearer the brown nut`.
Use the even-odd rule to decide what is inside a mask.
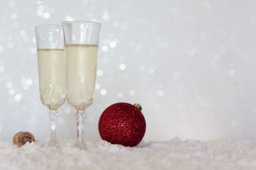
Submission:
[[[51,138],[49,146],[59,146],[56,139],[58,108],[66,99],[66,68],[61,25],[35,27],[41,102],[49,108]]]

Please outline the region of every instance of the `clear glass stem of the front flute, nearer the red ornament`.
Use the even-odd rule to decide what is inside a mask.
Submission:
[[[75,147],[85,149],[86,145],[84,142],[84,121],[86,114],[84,111],[77,111],[75,117],[77,120],[77,140]]]

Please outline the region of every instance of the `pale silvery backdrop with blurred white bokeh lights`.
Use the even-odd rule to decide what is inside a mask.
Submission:
[[[145,141],[256,139],[256,1],[1,1],[0,139],[18,131],[49,138],[40,102],[34,26],[102,22],[95,102],[100,114],[141,103]],[[61,106],[58,138],[76,138],[74,110]]]

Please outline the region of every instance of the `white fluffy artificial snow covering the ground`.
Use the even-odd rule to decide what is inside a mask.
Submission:
[[[136,147],[88,141],[87,150],[61,139],[61,148],[44,141],[18,148],[0,141],[0,169],[256,169],[256,141],[141,142]]]

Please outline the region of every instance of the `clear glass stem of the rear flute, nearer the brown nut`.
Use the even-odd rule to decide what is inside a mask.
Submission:
[[[58,118],[57,110],[50,110],[49,116],[51,118],[51,138],[49,141],[49,145],[58,146],[57,137],[56,137],[56,122]]]

